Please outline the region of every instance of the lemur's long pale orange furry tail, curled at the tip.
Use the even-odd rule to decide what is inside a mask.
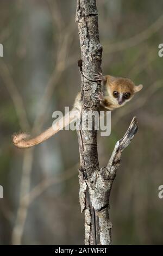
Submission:
[[[58,131],[62,130],[68,124],[76,121],[80,117],[80,112],[78,109],[72,109],[68,112],[64,117],[62,117],[59,121],[53,124],[52,127],[49,127],[46,131],[42,132],[40,135],[36,136],[35,138],[30,139],[30,135],[27,133],[19,133],[12,137],[12,142],[17,148],[30,148],[34,145],[40,144],[46,139],[52,137]],[[29,138],[29,139],[28,139]]]

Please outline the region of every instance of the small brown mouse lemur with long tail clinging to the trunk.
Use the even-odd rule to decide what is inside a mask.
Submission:
[[[100,102],[100,110],[105,111],[112,111],[115,108],[124,106],[124,104],[130,101],[135,93],[139,92],[143,87],[142,84],[135,86],[134,82],[129,78],[113,77],[110,75],[103,76],[102,74],[96,74],[95,78],[97,81],[101,81],[102,92],[101,94],[96,95],[96,97]],[[36,144],[46,141],[46,139],[55,135],[55,133],[63,129],[72,121],[80,118],[80,113],[82,111],[82,102],[80,98],[81,92],[77,94],[72,110],[63,117],[62,122],[58,121],[53,127],[50,127],[35,138],[28,138],[29,136],[26,133],[14,135],[12,138],[14,145],[18,148],[33,147]]]

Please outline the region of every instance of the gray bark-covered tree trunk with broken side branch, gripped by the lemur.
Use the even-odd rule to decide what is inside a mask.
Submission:
[[[101,71],[102,46],[99,42],[96,0],[78,0],[76,21],[78,22],[82,53],[82,115],[99,109],[95,94],[100,84],[94,75]],[[94,125],[94,124],[93,124]],[[97,131],[78,131],[80,152],[79,199],[82,212],[85,212],[85,245],[111,245],[109,219],[109,197],[116,170],[120,166],[121,153],[137,131],[137,121],[133,118],[124,137],[115,145],[111,158],[104,168],[99,168],[97,153]]]

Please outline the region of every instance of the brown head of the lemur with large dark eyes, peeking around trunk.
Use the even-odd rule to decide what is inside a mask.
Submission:
[[[129,78],[111,77],[109,80],[109,94],[118,105],[124,105],[130,101],[134,94],[139,92],[142,87],[142,84],[135,86],[134,82]]]

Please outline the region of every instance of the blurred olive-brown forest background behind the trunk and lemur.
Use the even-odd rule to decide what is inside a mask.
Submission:
[[[111,116],[111,136],[98,136],[101,166],[134,115],[139,132],[122,155],[112,188],[113,244],[163,243],[162,0],[97,0],[103,74],[130,77],[143,90]],[[52,125],[80,90],[76,0],[0,1],[0,244],[81,245],[77,134],[61,131],[32,149],[11,143]],[[76,213],[74,215],[74,212]]]

